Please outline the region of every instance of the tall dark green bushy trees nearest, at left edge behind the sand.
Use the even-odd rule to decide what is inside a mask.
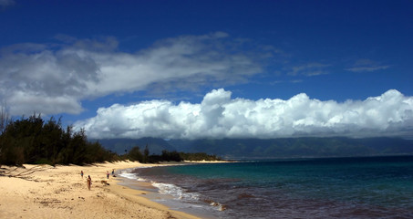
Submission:
[[[0,135],[0,163],[84,164],[114,161],[117,155],[98,142],[88,142],[84,130],[64,130],[61,120],[45,122],[40,115],[10,122]]]

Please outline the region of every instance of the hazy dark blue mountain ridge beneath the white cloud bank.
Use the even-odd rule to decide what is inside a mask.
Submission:
[[[97,140],[103,147],[119,154],[134,146],[140,150],[148,145],[151,154],[161,151],[206,152],[223,158],[291,158],[348,157],[413,154],[413,141],[401,138],[377,137],[352,139],[347,137],[303,137],[282,139],[201,139],[163,140],[156,138]]]

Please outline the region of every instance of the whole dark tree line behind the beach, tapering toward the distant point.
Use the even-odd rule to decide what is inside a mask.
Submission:
[[[3,113],[2,113],[3,114]],[[74,131],[72,126],[62,127],[61,119],[45,121],[40,114],[19,120],[3,120],[0,130],[0,165],[36,164],[88,164],[130,160],[137,162],[181,162],[184,160],[219,160],[206,153],[162,151],[151,154],[148,145],[144,151],[139,146],[119,155],[108,151],[96,142],[89,142],[85,130]]]

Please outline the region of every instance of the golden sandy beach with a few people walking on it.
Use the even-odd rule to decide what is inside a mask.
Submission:
[[[151,202],[145,197],[148,192],[119,185],[119,177],[110,175],[107,179],[106,173],[112,169],[145,165],[153,166],[139,162],[2,166],[0,218],[198,218]],[[92,179],[90,191],[88,175]]]

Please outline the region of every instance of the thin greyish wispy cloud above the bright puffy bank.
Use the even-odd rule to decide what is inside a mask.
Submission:
[[[57,39],[0,50],[0,100],[12,115],[77,114],[84,99],[228,85],[262,71],[256,58],[241,52],[243,45],[222,32],[167,38],[136,53],[120,52],[114,37]]]

